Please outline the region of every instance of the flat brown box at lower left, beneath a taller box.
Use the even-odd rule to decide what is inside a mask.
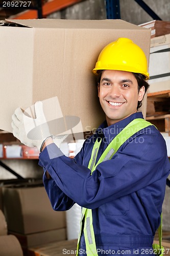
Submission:
[[[66,228],[59,228],[33,234],[20,234],[16,232],[10,232],[10,234],[13,234],[18,239],[23,249],[66,240]]]

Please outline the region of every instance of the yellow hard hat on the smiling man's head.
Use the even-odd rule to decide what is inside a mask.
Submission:
[[[129,38],[118,38],[107,45],[100,53],[93,73],[99,70],[121,70],[140,73],[149,79],[147,58],[142,49]]]

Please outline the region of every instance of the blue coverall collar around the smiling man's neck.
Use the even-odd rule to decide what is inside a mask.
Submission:
[[[105,137],[106,143],[109,144],[114,137],[121,132],[125,126],[128,125],[132,120],[136,118],[143,118],[142,112],[136,112],[129,117],[116,122],[110,126],[107,125],[106,120],[99,126],[99,128],[96,130],[97,136],[101,137],[101,134]]]

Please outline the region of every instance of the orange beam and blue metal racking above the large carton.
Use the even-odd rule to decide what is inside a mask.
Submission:
[[[31,0],[31,4],[25,7],[18,8],[15,5],[9,5],[4,7],[4,1],[0,1],[0,16],[2,13],[6,13],[7,17],[12,18],[13,12],[16,12],[14,19],[33,19],[33,18],[45,18],[51,13],[57,12],[59,10],[65,9],[71,5],[78,4],[85,0]],[[161,20],[161,18],[147,5],[143,0],[134,0],[145,12],[147,12],[153,19]],[[28,2],[28,1],[5,1],[7,2]],[[106,16],[107,19],[120,19],[120,4],[119,0],[105,0],[106,6]]]

